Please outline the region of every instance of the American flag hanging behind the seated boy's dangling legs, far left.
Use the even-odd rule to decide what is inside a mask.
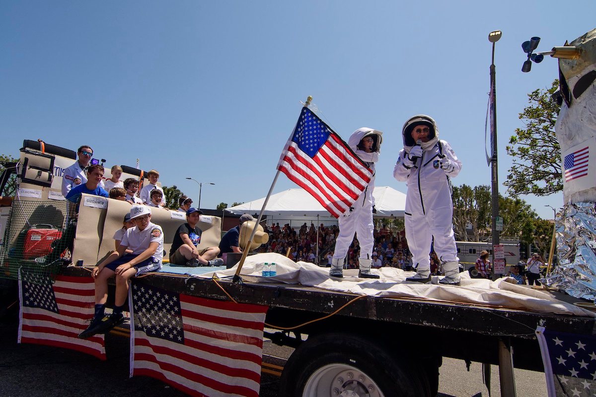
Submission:
[[[28,282],[23,273],[20,278],[18,343],[57,346],[105,360],[103,335],[78,338],[94,314],[92,277],[58,276],[53,285]]]

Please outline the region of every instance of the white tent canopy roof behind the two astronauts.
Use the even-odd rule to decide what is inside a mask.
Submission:
[[[389,186],[378,186],[374,188],[373,196],[375,198],[375,208],[377,213],[374,217],[395,217],[403,218],[403,210],[406,204],[406,195]],[[226,208],[226,211],[232,214],[244,214],[260,212],[265,198],[245,202],[235,207]],[[305,216],[305,217],[330,217],[331,214],[316,201],[310,193],[304,189],[288,189],[280,193],[275,193],[269,197],[269,202],[265,208],[265,215],[284,215],[284,216]]]

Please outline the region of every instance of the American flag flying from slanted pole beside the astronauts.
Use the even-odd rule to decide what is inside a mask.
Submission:
[[[364,192],[373,171],[342,138],[303,107],[277,169],[339,218]]]

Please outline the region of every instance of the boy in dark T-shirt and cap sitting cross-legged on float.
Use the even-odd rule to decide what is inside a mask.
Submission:
[[[188,208],[187,223],[181,224],[176,230],[172,249],[170,249],[170,264],[180,266],[221,266],[224,260],[217,258],[218,247],[198,249],[201,242],[201,229],[197,226],[203,211],[197,208]]]

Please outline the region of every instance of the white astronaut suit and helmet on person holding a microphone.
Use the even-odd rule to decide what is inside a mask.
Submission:
[[[429,127],[428,132],[415,127]],[[421,133],[418,145],[412,130]],[[434,237],[434,251],[442,262],[445,285],[459,285],[460,269],[453,232],[453,202],[451,178],[461,170],[461,161],[445,140],[439,140],[439,130],[427,115],[409,118],[402,129],[403,149],[393,169],[393,177],[406,182],[408,194],[405,206],[405,230],[408,248],[416,276],[408,281],[429,282],[429,252]]]

